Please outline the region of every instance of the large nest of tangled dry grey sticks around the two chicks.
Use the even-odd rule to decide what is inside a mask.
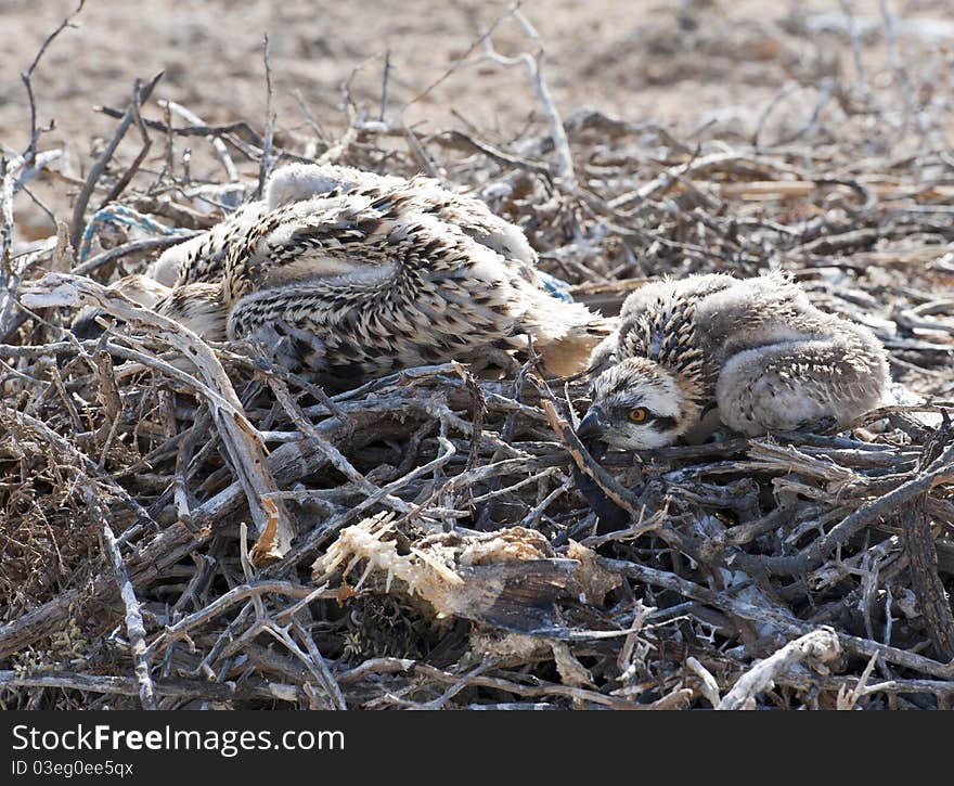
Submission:
[[[950,706],[950,158],[873,154],[849,101],[812,145],[564,119],[521,62],[546,123],[510,141],[350,104],[323,142],[183,126],[138,83],[107,112],[142,155],[107,146],[73,221],[18,256],[12,193],[42,154],[8,165],[3,284],[29,308],[0,298],[5,707]],[[203,182],[162,164],[196,136]],[[607,314],[652,278],[786,270],[878,334],[899,403],[597,462],[571,428],[585,382],[543,378],[532,348],[515,375],[450,362],[328,396],[105,292],[282,159],[474,193]],[[90,302],[120,322],[79,342],[60,306]]]

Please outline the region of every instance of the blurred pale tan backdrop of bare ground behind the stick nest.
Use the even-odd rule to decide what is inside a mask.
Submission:
[[[37,123],[53,126],[38,149],[59,152],[17,196],[15,247],[48,237],[54,217],[68,215],[134,80],[160,72],[143,102],[153,128],[165,127],[164,107],[172,101],[191,113],[169,116],[177,128],[244,121],[258,136],[240,136],[261,147],[271,103],[275,147],[309,159],[327,153],[348,128],[383,131],[378,142],[412,131],[425,147],[455,130],[519,153],[523,140],[547,132],[530,57],[521,54],[540,64],[567,126],[596,111],[631,128],[661,129],[685,150],[713,141],[778,151],[797,143],[825,158],[818,151],[835,145],[842,160],[887,157],[889,164],[951,150],[947,0],[526,0],[508,13],[514,5],[88,2],[33,74]],[[21,74],[76,8],[76,0],[0,0],[0,153],[8,157],[29,138]],[[144,172],[157,171],[165,155],[180,179],[221,178],[202,137],[153,136],[153,165]],[[133,159],[141,143],[140,134],[127,133],[115,162]],[[243,177],[257,177],[254,155],[237,155],[236,165]],[[388,168],[384,159],[373,166]],[[430,173],[466,180],[460,172]],[[937,171],[923,175],[933,179]]]

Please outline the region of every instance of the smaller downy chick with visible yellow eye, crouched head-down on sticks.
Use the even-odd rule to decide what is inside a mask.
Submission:
[[[670,444],[718,407],[747,436],[845,424],[874,409],[884,347],[815,308],[784,275],[691,275],[630,295],[596,348],[581,437],[633,450]]]

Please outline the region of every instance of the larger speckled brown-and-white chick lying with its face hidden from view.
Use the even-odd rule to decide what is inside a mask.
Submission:
[[[576,373],[606,322],[551,295],[536,262],[519,228],[434,180],[293,165],[147,280],[114,287],[203,337],[258,338],[326,382],[486,361],[527,336],[551,373]]]

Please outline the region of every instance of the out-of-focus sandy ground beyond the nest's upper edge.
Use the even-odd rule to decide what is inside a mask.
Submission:
[[[0,0],[0,141],[26,139],[27,103],[20,73],[76,0]],[[434,0],[362,3],[315,0],[89,0],[51,47],[35,77],[39,117],[55,119],[47,146],[69,143],[76,156],[112,121],[96,104],[123,105],[136,77],[165,70],[156,98],[171,98],[210,123],[266,116],[262,37],[270,39],[280,123],[300,126],[296,93],[315,117],[341,123],[341,85],[369,113],[379,112],[389,53],[387,116],[468,54],[480,30],[510,3]],[[887,48],[877,0],[851,3],[862,33],[865,77],[882,79]],[[900,54],[925,79],[950,68],[954,12],[947,0],[891,0]],[[787,85],[813,75],[853,72],[837,0],[528,0],[526,17],[545,49],[545,77],[565,114],[592,106],[629,120],[691,130],[713,123],[750,132]],[[500,52],[538,43],[513,20],[493,34]],[[480,47],[470,52],[476,60]],[[810,113],[796,96],[792,112]],[[811,98],[810,95],[808,96]],[[783,107],[784,109],[784,107]],[[459,119],[452,111],[457,113]],[[472,63],[416,102],[414,123],[462,125],[516,133],[539,104],[521,66]],[[720,130],[720,129],[717,129]]]

